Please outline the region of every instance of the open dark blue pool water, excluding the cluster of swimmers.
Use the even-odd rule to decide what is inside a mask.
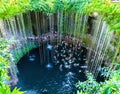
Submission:
[[[75,94],[75,83],[86,80],[84,69],[82,72],[74,71],[77,69],[60,71],[52,62],[52,51],[44,45],[31,50],[18,62],[17,87],[26,94]]]

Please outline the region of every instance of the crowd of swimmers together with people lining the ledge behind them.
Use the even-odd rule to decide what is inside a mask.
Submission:
[[[69,35],[60,36],[57,32],[52,32],[42,34],[40,37],[27,37],[27,40],[44,42],[54,40],[55,38],[60,40],[60,37],[61,41],[53,46],[53,48],[48,45],[48,49],[54,49],[54,63],[59,66],[60,71],[63,71],[63,69],[87,68],[84,66],[87,50],[81,46],[81,43],[83,43],[81,39],[70,37]],[[83,64],[83,66],[81,64]]]

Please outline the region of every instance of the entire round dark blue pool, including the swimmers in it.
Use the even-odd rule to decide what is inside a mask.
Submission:
[[[17,87],[25,94],[75,94],[85,81],[86,49],[68,42],[44,42],[17,64]]]

